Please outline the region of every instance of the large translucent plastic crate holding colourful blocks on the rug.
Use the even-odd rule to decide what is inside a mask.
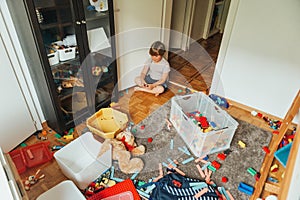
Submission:
[[[195,111],[199,111],[209,122],[214,122],[216,128],[202,132],[187,115]],[[198,157],[228,149],[238,126],[238,122],[225,110],[201,92],[173,97],[170,121],[192,153]]]

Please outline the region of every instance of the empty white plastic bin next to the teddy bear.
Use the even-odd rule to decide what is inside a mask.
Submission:
[[[85,189],[111,167],[111,148],[97,157],[101,146],[102,143],[87,132],[57,151],[54,158],[63,174],[80,189]]]

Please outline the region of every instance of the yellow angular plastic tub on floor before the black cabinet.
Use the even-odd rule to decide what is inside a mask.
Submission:
[[[87,127],[103,138],[114,138],[126,128],[126,114],[112,108],[102,108],[86,120]]]

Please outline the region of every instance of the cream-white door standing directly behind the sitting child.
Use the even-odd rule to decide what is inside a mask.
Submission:
[[[150,45],[160,40],[168,47],[172,0],[116,0],[114,17],[119,90],[134,86],[134,78],[149,57]]]

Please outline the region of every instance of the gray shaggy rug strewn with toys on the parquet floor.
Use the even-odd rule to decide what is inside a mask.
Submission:
[[[187,155],[178,149],[188,147],[181,137],[178,135],[175,128],[167,127],[166,119],[170,115],[171,101],[168,101],[163,106],[151,113],[145,120],[135,125],[131,130],[134,130],[137,144],[143,144],[146,147],[146,153],[140,156],[143,159],[144,169],[136,176],[135,179],[147,182],[151,178],[159,175],[159,163],[170,163],[170,160],[177,160],[177,168],[183,171],[187,177],[203,180],[196,168],[195,161],[182,164],[182,161],[193,157],[192,153]],[[262,130],[245,121],[236,119],[239,126],[234,134],[230,145],[230,154],[225,160],[217,158],[218,153],[208,155],[209,161],[218,161],[221,164],[220,169],[212,173],[211,180],[217,186],[223,186],[229,190],[232,196],[237,200],[246,200],[250,196],[238,190],[240,182],[254,186],[255,178],[247,172],[248,168],[253,168],[259,171],[265,156],[262,150],[263,146],[267,146],[272,138],[271,132]],[[144,128],[143,128],[144,126]],[[149,138],[152,142],[149,142]],[[238,141],[243,141],[246,144],[245,148],[238,145]],[[173,141],[173,142],[171,142]],[[172,144],[171,144],[172,143]],[[173,146],[173,148],[172,148]],[[198,163],[199,164],[199,163]],[[121,173],[117,163],[113,163],[116,168],[115,177],[130,178],[131,175]],[[200,163],[203,166],[202,163]],[[164,174],[166,167],[163,166]],[[222,182],[222,177],[227,177],[228,182]]]

